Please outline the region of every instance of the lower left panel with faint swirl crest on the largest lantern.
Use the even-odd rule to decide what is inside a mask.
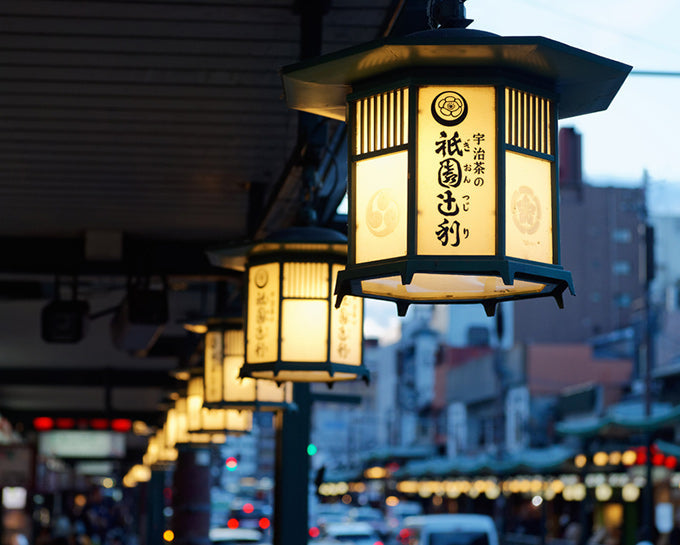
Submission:
[[[406,151],[355,163],[357,263],[406,255],[407,175]]]

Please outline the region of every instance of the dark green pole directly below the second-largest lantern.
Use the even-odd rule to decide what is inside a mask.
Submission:
[[[293,385],[297,409],[276,414],[273,545],[307,543],[309,445],[312,397],[306,383]]]

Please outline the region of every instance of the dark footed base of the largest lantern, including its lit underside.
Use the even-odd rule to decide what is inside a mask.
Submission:
[[[400,258],[348,265],[338,273],[336,306],[345,295],[394,301],[399,316],[413,303],[481,303],[488,316],[502,301],[574,295],[571,273],[557,265],[495,258]]]

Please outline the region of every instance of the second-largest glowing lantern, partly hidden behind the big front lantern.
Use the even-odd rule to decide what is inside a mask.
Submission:
[[[367,379],[363,301],[333,305],[346,238],[321,227],[291,227],[247,248],[209,253],[213,264],[246,273],[242,377],[276,382]]]

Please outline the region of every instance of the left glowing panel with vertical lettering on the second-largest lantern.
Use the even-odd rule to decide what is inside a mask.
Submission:
[[[255,265],[248,271],[248,329],[250,363],[278,358],[279,264]]]

